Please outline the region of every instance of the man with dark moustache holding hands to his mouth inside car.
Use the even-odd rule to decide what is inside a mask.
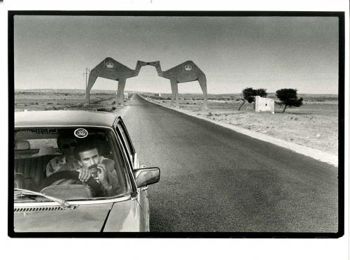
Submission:
[[[87,182],[90,178],[94,178],[102,186],[102,196],[113,196],[117,193],[120,185],[115,163],[100,155],[96,140],[93,138],[79,140],[74,149],[74,157],[80,166],[79,180]]]

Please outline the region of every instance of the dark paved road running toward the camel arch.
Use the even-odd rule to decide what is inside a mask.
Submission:
[[[337,168],[134,95],[125,124],[149,188],[151,231],[337,232]]]

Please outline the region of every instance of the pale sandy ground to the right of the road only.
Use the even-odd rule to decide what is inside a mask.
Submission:
[[[163,106],[170,106],[169,94],[162,99],[145,95]],[[197,95],[198,96],[198,95]],[[338,154],[338,102],[337,95],[300,95],[304,105],[287,108],[285,113],[279,106],[275,114],[254,113],[253,104],[246,103],[238,111],[241,101],[235,96],[209,96],[208,111],[202,108],[203,101],[194,94],[180,96],[180,108],[196,112],[201,117],[264,133],[291,143],[297,143],[330,154]]]

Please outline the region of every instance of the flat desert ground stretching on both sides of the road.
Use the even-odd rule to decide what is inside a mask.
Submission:
[[[129,92],[129,97],[131,92]],[[171,94],[142,94],[148,99],[170,106]],[[240,94],[209,94],[208,110],[203,109],[202,94],[179,94],[180,108],[194,111],[201,117],[264,133],[330,154],[338,154],[338,96],[298,94],[304,99],[300,108],[275,106],[275,113],[255,113],[253,103],[241,105]],[[267,97],[276,101],[274,94]],[[82,89],[18,89],[15,90],[15,111],[23,110],[118,110],[116,90],[90,92],[90,105],[85,106]]]

